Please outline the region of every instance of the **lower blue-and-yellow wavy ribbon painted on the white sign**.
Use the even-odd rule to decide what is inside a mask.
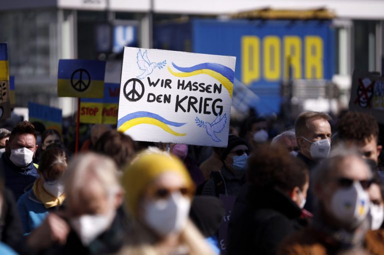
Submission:
[[[121,119],[119,119],[117,121],[117,127],[118,127],[117,130],[120,132],[125,132],[129,128],[139,124],[154,125],[175,136],[186,135],[184,133],[177,133],[168,127],[168,125],[174,126],[174,127],[181,127],[185,125],[185,123],[172,122],[164,119],[160,115],[157,115],[151,112],[144,112],[144,111],[129,113],[124,117],[122,117]]]

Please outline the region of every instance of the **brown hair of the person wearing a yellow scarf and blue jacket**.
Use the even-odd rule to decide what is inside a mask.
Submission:
[[[38,171],[48,180],[57,180],[67,168],[65,151],[58,147],[46,149],[40,157]]]

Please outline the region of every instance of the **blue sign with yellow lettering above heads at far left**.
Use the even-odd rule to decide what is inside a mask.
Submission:
[[[29,121],[39,121],[46,129],[55,129],[61,134],[62,111],[61,109],[28,102]]]

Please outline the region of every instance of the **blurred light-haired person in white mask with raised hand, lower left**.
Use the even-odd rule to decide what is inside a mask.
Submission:
[[[65,210],[49,214],[29,235],[29,246],[36,253],[55,255],[118,252],[126,224],[114,162],[94,153],[77,156],[69,162],[63,184]]]

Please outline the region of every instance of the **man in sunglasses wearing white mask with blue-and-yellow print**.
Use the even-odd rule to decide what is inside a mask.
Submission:
[[[368,232],[372,173],[358,154],[345,149],[337,153],[313,172],[317,201],[311,226],[285,239],[277,254],[383,253],[382,235]]]

